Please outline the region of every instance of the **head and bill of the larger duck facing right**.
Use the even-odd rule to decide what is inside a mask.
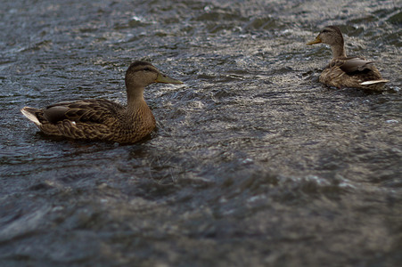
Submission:
[[[128,67],[126,72],[126,86],[144,87],[153,83],[183,84],[181,81],[168,77],[151,63],[146,61],[135,61]]]

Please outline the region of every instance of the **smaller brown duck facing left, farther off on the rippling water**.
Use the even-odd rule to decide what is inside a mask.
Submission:
[[[373,61],[360,57],[347,57],[343,36],[336,26],[325,27],[314,41],[308,44],[329,44],[332,61],[321,73],[319,81],[325,85],[381,90],[388,80],[382,79]]]

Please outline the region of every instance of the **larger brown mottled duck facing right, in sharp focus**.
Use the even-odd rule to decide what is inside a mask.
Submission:
[[[45,134],[71,139],[132,143],[151,134],[155,118],[144,101],[153,83],[183,84],[151,63],[135,61],[126,72],[127,107],[103,99],[59,102],[45,109],[25,107],[22,114]]]

